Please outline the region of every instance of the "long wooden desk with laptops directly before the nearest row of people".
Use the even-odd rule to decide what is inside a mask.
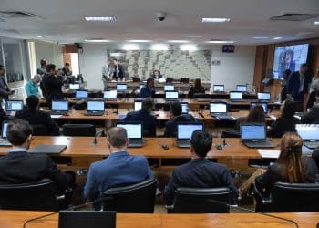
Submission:
[[[273,150],[279,150],[280,139],[273,139],[273,144],[277,146]],[[67,145],[67,149],[61,154],[56,155],[68,158],[74,167],[87,168],[94,161],[99,161],[108,157],[109,150],[106,146],[104,137],[98,137],[98,144],[95,145],[94,137],[66,137],[66,136],[34,136],[30,148],[36,145]],[[262,157],[257,149],[249,149],[242,144],[240,139],[225,139],[227,146],[222,150],[217,150],[215,144],[223,144],[223,139],[215,138],[212,140],[213,146],[207,157],[213,161],[223,163],[233,169],[247,169],[250,160],[261,160]],[[177,147],[175,138],[145,138],[143,147],[129,148],[132,155],[145,155],[150,165],[157,168],[171,168],[181,163],[190,161],[190,149]],[[169,150],[162,148],[168,145]],[[0,155],[5,155],[9,147],[1,147]]]

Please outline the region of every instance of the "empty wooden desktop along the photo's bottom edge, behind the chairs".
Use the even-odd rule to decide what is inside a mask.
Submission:
[[[0,211],[0,228],[21,228],[30,219],[48,214],[49,212]],[[316,227],[319,212],[272,213],[273,215],[293,220],[300,228]],[[50,215],[28,223],[28,228],[57,228],[58,214]],[[92,226],[93,227],[93,226]],[[141,214],[118,213],[117,228],[285,228],[296,227],[293,223],[266,217],[257,213],[207,213],[207,214]],[[75,227],[77,228],[77,227]]]

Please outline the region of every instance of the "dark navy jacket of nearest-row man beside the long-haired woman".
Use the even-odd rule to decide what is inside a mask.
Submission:
[[[238,195],[233,185],[228,168],[207,159],[192,159],[190,162],[177,167],[171,176],[169,184],[165,187],[164,198],[168,204],[174,199],[174,191],[178,187],[189,188],[218,188],[229,187],[233,197]]]

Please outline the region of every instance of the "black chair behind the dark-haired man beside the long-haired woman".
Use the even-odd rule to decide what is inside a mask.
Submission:
[[[215,200],[218,202],[210,202]],[[220,202],[232,203],[229,188],[177,188],[174,204],[166,206],[169,213],[228,213],[229,207]]]

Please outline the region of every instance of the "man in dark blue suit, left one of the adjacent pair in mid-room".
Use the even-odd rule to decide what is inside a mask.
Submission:
[[[153,98],[144,98],[142,101],[142,109],[129,112],[124,121],[143,122],[143,136],[154,137],[156,136],[156,118],[150,113],[153,107]]]

